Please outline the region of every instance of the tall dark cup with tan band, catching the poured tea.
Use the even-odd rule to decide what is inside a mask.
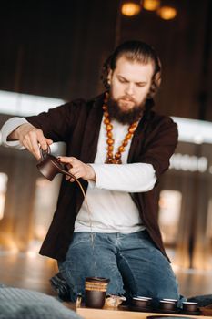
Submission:
[[[86,307],[103,308],[106,301],[106,289],[109,281],[109,279],[102,277],[86,277]]]

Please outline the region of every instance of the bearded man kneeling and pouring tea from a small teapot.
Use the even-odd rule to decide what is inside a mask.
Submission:
[[[66,143],[59,160],[81,179],[62,180],[56,212],[40,253],[58,261],[70,300],[84,295],[85,278],[110,279],[107,293],[180,300],[157,223],[156,183],[177,145],[177,125],[151,108],[161,81],[152,46],[127,41],[103,67],[106,92],[38,116],[12,118],[5,145],[36,159],[53,142]],[[17,140],[17,141],[15,141]]]

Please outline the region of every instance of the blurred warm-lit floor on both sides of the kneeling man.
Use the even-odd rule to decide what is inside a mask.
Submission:
[[[49,279],[57,272],[56,262],[37,253],[0,252],[0,283],[51,295]],[[180,293],[186,297],[212,293],[212,271],[175,271]]]

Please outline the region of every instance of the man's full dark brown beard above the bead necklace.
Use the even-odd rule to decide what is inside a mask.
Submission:
[[[114,118],[122,124],[131,125],[132,123],[138,121],[142,117],[145,104],[146,98],[139,105],[135,105],[133,108],[123,111],[118,106],[117,101],[110,95],[107,102],[107,109],[110,118]]]

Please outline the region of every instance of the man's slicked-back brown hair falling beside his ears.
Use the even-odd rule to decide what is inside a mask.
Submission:
[[[161,62],[156,54],[155,49],[142,41],[126,41],[120,46],[117,46],[112,55],[106,58],[101,75],[101,79],[106,87],[106,90],[108,90],[110,87],[107,80],[108,73],[110,70],[115,70],[118,58],[123,56],[129,61],[136,61],[145,65],[147,63],[153,64],[154,73],[151,87],[147,96],[147,99],[152,99],[161,83]]]

